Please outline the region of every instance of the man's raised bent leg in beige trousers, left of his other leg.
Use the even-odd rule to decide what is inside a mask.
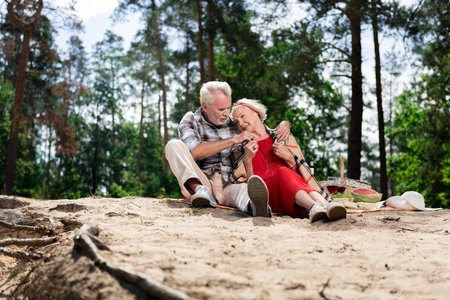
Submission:
[[[208,201],[206,201],[203,195],[208,192],[202,186],[207,187],[210,193],[212,189],[211,182],[192,158],[186,144],[180,140],[171,140],[167,143],[164,152],[170,169],[178,180],[183,195],[188,199],[194,197],[194,199],[191,198],[191,203],[195,200],[199,202],[200,205],[198,206],[208,204]],[[208,198],[211,206],[217,206],[212,195],[211,197],[208,195]],[[195,203],[192,204],[194,205]]]

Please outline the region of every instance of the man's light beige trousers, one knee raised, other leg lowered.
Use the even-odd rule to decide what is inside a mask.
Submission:
[[[164,152],[170,169],[178,180],[181,192],[187,199],[190,199],[191,193],[187,190],[185,184],[189,179],[194,178],[211,190],[217,203],[237,207],[243,212],[249,212],[248,204],[250,198],[247,193],[247,184],[225,183],[220,173],[215,173],[214,176],[206,175],[198,167],[192,158],[189,148],[181,140],[169,141]]]

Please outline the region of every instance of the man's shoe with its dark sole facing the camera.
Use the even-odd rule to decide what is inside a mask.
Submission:
[[[271,217],[269,191],[266,183],[257,175],[250,176],[247,181],[247,192],[254,217]]]

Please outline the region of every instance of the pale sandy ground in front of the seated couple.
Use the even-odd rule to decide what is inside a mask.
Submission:
[[[199,299],[449,298],[449,210],[354,213],[311,224],[168,199],[0,196],[0,203],[0,220],[45,225],[59,237],[39,247],[45,259],[0,254],[4,299],[147,299],[74,250],[87,222],[100,227],[109,262]],[[30,235],[0,227],[0,240]]]

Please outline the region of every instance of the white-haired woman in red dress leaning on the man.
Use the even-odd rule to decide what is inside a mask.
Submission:
[[[330,220],[345,218],[345,207],[323,193],[327,201],[312,175],[309,178],[300,175],[300,168],[305,167],[298,164],[299,156],[303,157],[295,138],[291,136],[287,146],[279,143],[276,132],[263,123],[266,111],[266,107],[257,100],[241,99],[233,106],[232,117],[238,129],[252,135],[250,142],[237,147],[244,151],[237,166],[244,172],[237,176],[240,179],[260,176],[266,183],[273,212],[292,217],[307,217],[309,214],[311,222],[325,217]],[[295,148],[298,155],[291,150]]]

